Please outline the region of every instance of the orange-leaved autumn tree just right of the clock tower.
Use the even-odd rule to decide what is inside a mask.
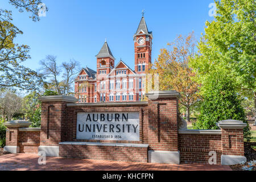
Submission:
[[[176,90],[180,93],[180,106],[186,108],[189,121],[190,107],[200,100],[200,85],[193,79],[196,75],[189,68],[189,60],[195,55],[195,36],[193,32],[186,37],[179,35],[168,46],[171,47],[170,51],[160,49],[160,55],[150,65],[148,73],[159,74],[160,90]]]

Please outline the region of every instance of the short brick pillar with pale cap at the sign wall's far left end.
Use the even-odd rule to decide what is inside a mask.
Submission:
[[[27,121],[10,121],[3,123],[6,129],[6,146],[3,151],[11,152],[13,154],[19,153],[19,128],[28,127],[31,125]]]

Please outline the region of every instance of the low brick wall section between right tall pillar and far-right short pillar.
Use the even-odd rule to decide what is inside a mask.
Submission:
[[[221,134],[179,134],[180,161],[182,163],[208,163],[210,151],[217,154],[221,163]]]

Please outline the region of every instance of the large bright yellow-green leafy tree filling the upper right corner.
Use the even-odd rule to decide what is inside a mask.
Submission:
[[[235,89],[254,98],[256,106],[256,24],[254,0],[216,1],[217,14],[206,22],[199,55],[191,62],[204,86],[218,73],[234,78]],[[255,113],[256,123],[256,113]]]

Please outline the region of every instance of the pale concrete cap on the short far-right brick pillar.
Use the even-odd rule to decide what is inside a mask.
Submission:
[[[244,129],[247,124],[234,119],[226,119],[223,121],[219,121],[217,123],[217,126],[221,127],[222,129]]]

